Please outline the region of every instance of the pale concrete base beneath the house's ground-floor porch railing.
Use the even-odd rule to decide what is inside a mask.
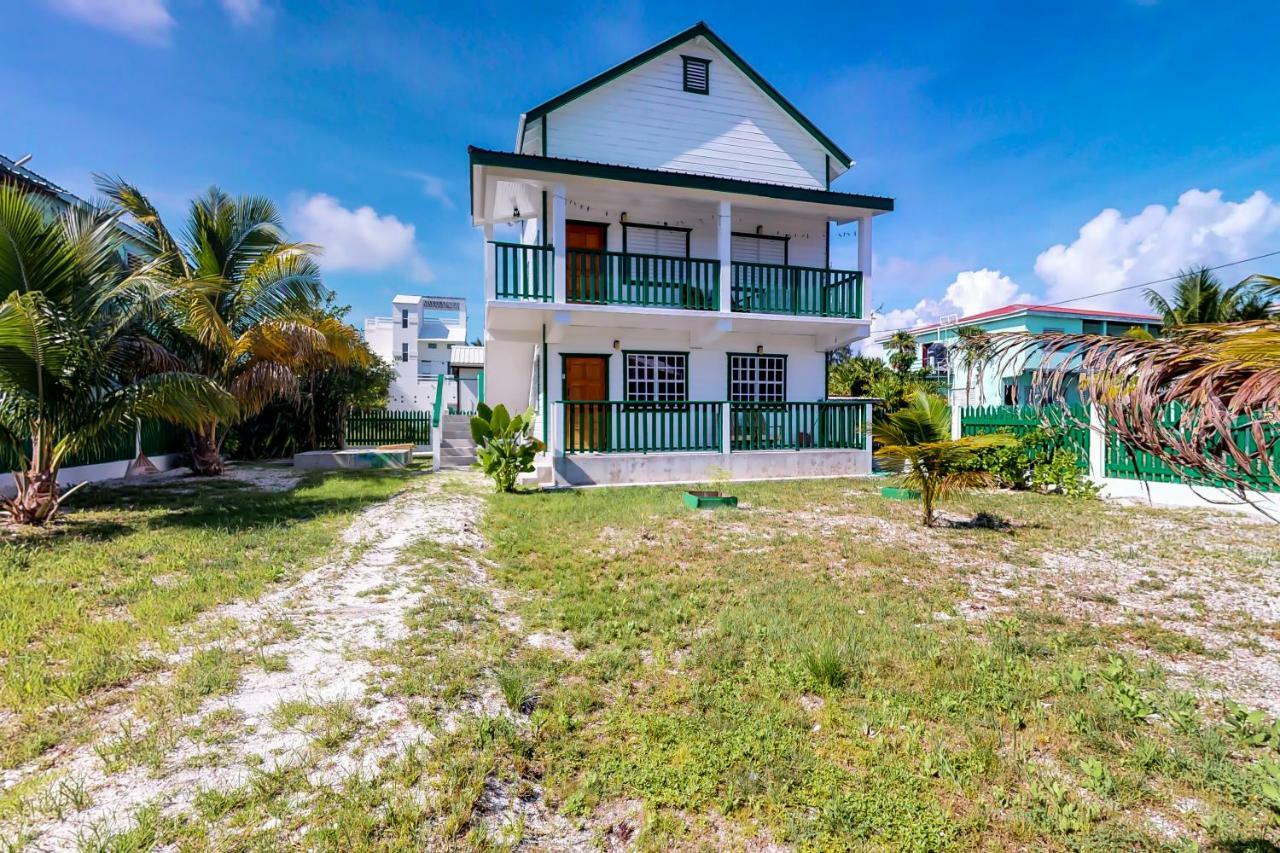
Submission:
[[[739,453],[598,453],[556,459],[557,485],[634,485],[705,483],[717,469],[731,480],[859,476],[872,470],[872,455],[856,450],[778,450]]]

